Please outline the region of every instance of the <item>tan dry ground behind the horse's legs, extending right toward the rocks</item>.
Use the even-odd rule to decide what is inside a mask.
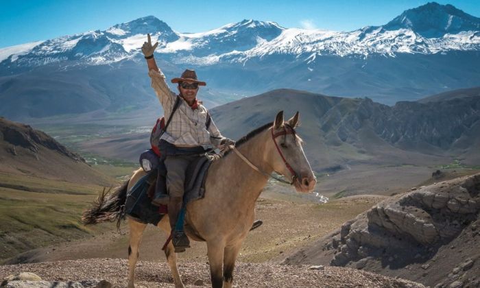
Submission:
[[[278,186],[276,186],[278,187]],[[281,187],[280,187],[281,188]],[[279,188],[279,189],[280,189]],[[263,263],[296,250],[315,241],[328,232],[339,228],[344,221],[367,210],[383,197],[352,197],[327,204],[306,202],[299,194],[279,193],[270,189],[262,193],[256,205],[256,218],[263,226],[250,232],[243,243],[239,261]],[[128,230],[123,225],[121,232],[111,230],[110,224],[104,233],[95,237],[56,245],[53,249],[38,250],[36,261],[63,261],[89,258],[122,258],[128,256]],[[158,228],[148,226],[141,243],[140,259],[165,261],[160,250],[166,240]],[[192,242],[192,248],[179,254],[182,261],[207,261],[206,245]]]

